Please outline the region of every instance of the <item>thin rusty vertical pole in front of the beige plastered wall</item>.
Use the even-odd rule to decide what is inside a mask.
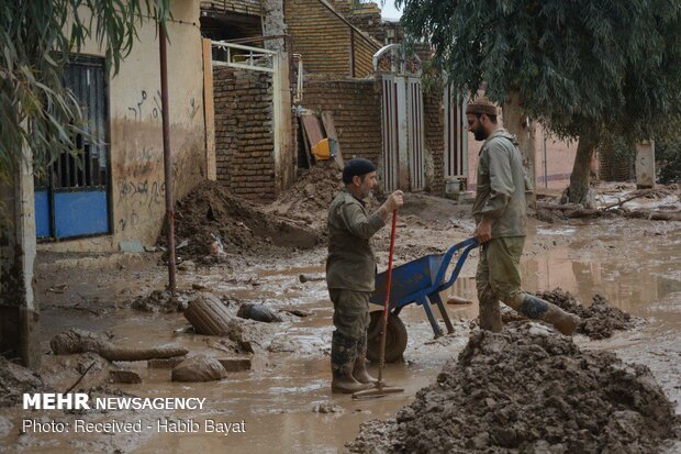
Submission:
[[[168,289],[175,294],[175,208],[172,203],[172,157],[170,155],[170,125],[168,120],[168,58],[166,29],[158,24],[158,54],[160,55],[160,106],[164,131],[164,174],[166,179],[166,242],[168,245]]]

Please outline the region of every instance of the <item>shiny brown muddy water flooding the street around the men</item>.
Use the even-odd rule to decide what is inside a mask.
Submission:
[[[629,220],[612,224],[542,225],[527,239],[522,263],[523,279],[529,291],[561,287],[582,302],[591,301],[598,292],[613,306],[633,315],[645,317],[647,323],[643,326],[617,333],[610,340],[594,342],[579,336],[576,341],[580,346],[614,351],[624,361],[650,367],[666,395],[677,400],[677,412],[681,412],[678,378],[681,376],[681,270],[678,267],[681,263],[681,230],[663,224],[650,226],[645,221]],[[409,232],[404,235],[411,237]],[[446,247],[462,239],[460,231],[437,231],[432,236],[436,243],[426,236],[420,241],[422,244],[442,243]],[[387,262],[382,252],[379,257]],[[456,295],[476,300],[472,278],[476,264],[477,254],[473,253],[460,278],[444,292],[443,298]],[[379,265],[379,269],[383,268],[384,263]],[[415,304],[405,308],[401,318],[409,333],[404,353],[406,363],[391,364],[386,372],[389,384],[405,388],[405,392],[370,401],[332,396],[328,386],[332,306],[324,281],[303,284],[299,280],[300,274],[319,275],[323,269],[324,251],[315,250],[294,258],[264,259],[260,265],[238,270],[201,267],[181,273],[179,281],[183,287],[200,284],[208,291],[228,295],[242,302],[263,302],[275,310],[294,307],[309,312],[309,317],[290,317],[278,323],[272,342],[280,351],[261,352],[250,372],[233,373],[225,380],[212,384],[180,385],[169,381],[169,370],[152,370],[144,364],[136,364],[133,367],[141,373],[143,384],[116,385],[124,392],[141,397],[205,397],[205,410],[168,417],[193,418],[196,421],[210,418],[244,420],[245,433],[227,436],[147,433],[120,444],[101,444],[101,436],[75,440],[43,434],[16,444],[20,416],[10,416],[8,410],[2,410],[0,416],[14,424],[5,438],[0,434],[2,445],[10,450],[7,452],[16,451],[12,446],[21,446],[23,452],[43,452],[49,447],[56,452],[112,452],[121,449],[143,453],[225,450],[259,453],[271,452],[272,446],[289,452],[343,452],[344,443],[355,439],[361,422],[394,417],[398,409],[413,400],[418,389],[433,383],[445,362],[456,357],[466,345],[468,321],[477,317],[478,309],[477,304],[447,306],[455,332],[434,341],[423,309]],[[164,269],[159,268],[157,274],[163,280]],[[101,288],[98,287],[98,291],[102,291]],[[141,289],[134,290],[138,291]],[[371,309],[380,307],[372,306]],[[53,308],[44,313],[44,320],[46,337],[64,328],[78,326],[111,330],[114,339],[126,346],[172,342],[189,347],[192,354],[215,354],[205,337],[175,333],[175,330],[188,325],[180,313],[149,315],[119,309],[98,318]],[[445,329],[442,321],[440,326]],[[370,370],[376,374],[375,366],[370,366]],[[320,406],[327,412],[313,411]],[[112,416],[99,418],[104,417]]]

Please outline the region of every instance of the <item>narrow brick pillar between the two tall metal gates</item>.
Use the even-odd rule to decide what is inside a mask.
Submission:
[[[423,92],[423,114],[425,125],[425,147],[432,159],[433,174],[426,175],[426,190],[436,195],[445,193],[445,118],[442,96],[438,90]],[[426,169],[428,166],[426,165]]]

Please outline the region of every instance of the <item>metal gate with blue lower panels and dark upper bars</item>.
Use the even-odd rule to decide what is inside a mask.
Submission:
[[[89,136],[76,137],[79,154],[62,154],[35,186],[38,239],[70,239],[111,231],[109,207],[108,108],[104,60],[78,57],[65,85],[80,103]]]

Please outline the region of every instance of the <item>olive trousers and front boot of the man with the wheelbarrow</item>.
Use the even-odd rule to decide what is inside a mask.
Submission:
[[[480,248],[476,273],[480,329],[501,332],[500,300],[520,310],[523,300],[520,263],[524,245],[525,236],[510,236],[492,239]]]

